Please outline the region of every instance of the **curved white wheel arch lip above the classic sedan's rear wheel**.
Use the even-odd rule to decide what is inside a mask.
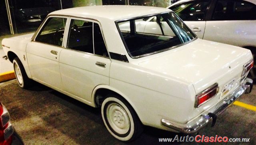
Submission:
[[[140,112],[138,111],[138,109],[136,108],[134,103],[132,103],[132,101],[124,93],[122,93],[121,91],[119,91],[109,85],[98,85],[94,88],[94,90],[92,92],[92,101],[94,103],[94,106],[100,107],[104,98],[109,93],[114,93],[115,95],[122,97],[132,107],[132,109],[137,114],[138,118],[140,119]],[[140,121],[141,121],[141,119],[140,119]]]

